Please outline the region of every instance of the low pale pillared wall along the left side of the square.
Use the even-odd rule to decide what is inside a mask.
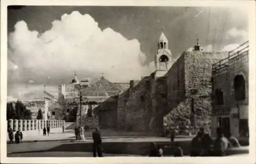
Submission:
[[[7,128],[11,128],[14,132],[20,130],[23,134],[42,135],[44,127],[50,127],[50,133],[62,131],[62,126],[65,126],[64,120],[8,120]],[[7,133],[8,136],[8,133]]]

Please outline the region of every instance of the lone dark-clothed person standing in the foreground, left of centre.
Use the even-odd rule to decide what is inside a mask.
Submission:
[[[101,136],[99,128],[96,128],[93,132],[93,157],[97,157],[97,154],[99,157],[102,157],[102,150],[101,150]]]

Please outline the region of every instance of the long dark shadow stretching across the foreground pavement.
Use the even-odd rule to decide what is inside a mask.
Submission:
[[[184,155],[188,155],[190,152],[190,140],[178,141],[177,143],[183,149]],[[156,142],[163,149],[164,156],[173,155],[173,151],[170,148],[166,148],[166,145],[169,145],[169,142]],[[149,154],[151,142],[113,142],[113,143],[102,143],[103,153],[105,154],[131,154],[131,155],[143,155],[147,156]],[[246,143],[241,143],[245,145]],[[247,144],[246,144],[247,145]],[[92,152],[93,144],[92,143],[63,143],[59,146],[56,146],[47,150],[39,151],[30,151],[30,152]],[[231,154],[236,154],[236,151],[231,151]],[[14,152],[20,153],[20,152]],[[11,153],[11,154],[14,154]],[[27,152],[23,152],[27,153]],[[248,149],[239,150],[239,153],[249,153]]]

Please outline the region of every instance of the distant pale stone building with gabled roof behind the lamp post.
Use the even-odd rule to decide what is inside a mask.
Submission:
[[[98,111],[94,109],[105,100],[112,96],[119,95],[129,85],[123,83],[112,83],[103,76],[97,79],[83,79],[79,82],[77,76],[74,76],[70,84],[61,84],[59,86],[59,104],[61,110],[58,117],[65,118],[67,122],[78,122],[80,120],[80,84],[81,84],[81,108],[82,122],[88,123],[93,120],[98,124]],[[87,117],[88,110],[91,109],[94,119]],[[74,113],[77,115],[74,116]],[[92,125],[97,126],[97,125]]]

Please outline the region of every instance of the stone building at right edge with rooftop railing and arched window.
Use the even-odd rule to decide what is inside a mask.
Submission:
[[[249,42],[230,51],[228,57],[213,65],[212,134],[222,127],[231,135],[249,135]]]

